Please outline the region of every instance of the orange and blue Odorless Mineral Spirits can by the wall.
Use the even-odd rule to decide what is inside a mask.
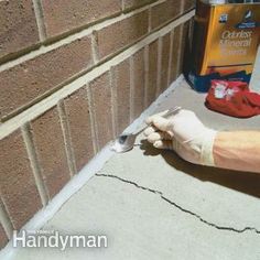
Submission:
[[[197,0],[188,83],[202,93],[213,79],[249,84],[259,35],[259,0]]]

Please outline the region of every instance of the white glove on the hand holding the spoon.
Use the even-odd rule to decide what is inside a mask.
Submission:
[[[147,119],[151,124],[144,134],[158,149],[175,151],[182,159],[202,165],[215,166],[213,145],[217,131],[206,128],[193,111],[180,110],[165,119],[166,111]]]

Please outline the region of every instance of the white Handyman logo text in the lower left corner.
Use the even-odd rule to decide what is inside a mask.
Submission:
[[[64,251],[66,248],[107,248],[107,236],[64,235],[58,231],[39,230],[13,231],[14,248],[57,248]]]

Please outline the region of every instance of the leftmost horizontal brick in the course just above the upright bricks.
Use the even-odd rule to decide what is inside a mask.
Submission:
[[[0,118],[32,105],[93,65],[84,37],[0,73]]]

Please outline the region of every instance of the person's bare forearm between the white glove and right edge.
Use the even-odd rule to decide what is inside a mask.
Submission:
[[[260,132],[218,132],[213,155],[217,167],[260,173]]]

